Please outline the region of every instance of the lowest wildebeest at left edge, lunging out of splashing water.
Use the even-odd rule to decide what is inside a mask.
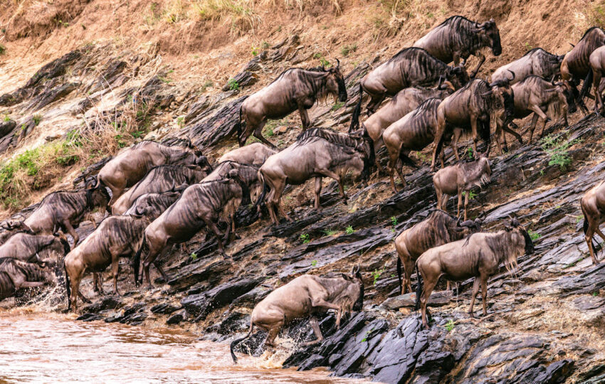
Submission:
[[[13,296],[21,288],[56,282],[57,277],[51,270],[10,257],[0,259],[0,300]]]

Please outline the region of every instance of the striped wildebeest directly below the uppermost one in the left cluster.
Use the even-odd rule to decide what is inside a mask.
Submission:
[[[111,207],[111,213],[112,215],[122,215],[139,196],[145,193],[162,193],[181,184],[191,185],[207,175],[206,171],[197,165],[164,164],[155,166],[144,178],[115,201]]]

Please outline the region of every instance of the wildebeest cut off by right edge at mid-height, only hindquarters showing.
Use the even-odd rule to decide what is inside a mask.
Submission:
[[[584,223],[582,225],[584,238],[588,245],[592,263],[597,265],[599,264],[599,260],[597,260],[594,254],[592,237],[596,233],[601,236],[601,239],[605,240],[605,235],[599,229],[599,225],[605,221],[605,184],[603,181],[582,196],[580,208],[582,208],[582,214],[584,215]]]

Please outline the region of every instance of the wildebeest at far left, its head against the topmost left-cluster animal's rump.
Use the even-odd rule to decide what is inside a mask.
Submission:
[[[80,237],[73,228],[77,228],[95,208],[105,209],[109,200],[109,193],[102,186],[82,191],[56,191],[42,199],[40,206],[26,218],[24,224],[34,233],[50,234],[60,229],[67,231],[73,237],[75,246]]]

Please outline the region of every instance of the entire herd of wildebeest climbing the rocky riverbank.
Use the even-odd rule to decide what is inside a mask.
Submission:
[[[80,292],[80,282],[88,272],[95,274],[95,290],[102,292],[101,273],[111,266],[114,290],[119,294],[120,257],[130,258],[135,284],[140,284],[144,275],[151,287],[152,264],[167,282],[161,265],[164,255],[203,228],[214,235],[225,255],[226,245],[236,236],[239,206],[255,203],[255,209],[261,211],[264,205],[272,223],[278,225],[278,215],[292,220],[280,205],[285,187],[314,179],[315,209],[320,209],[324,177],[337,182],[346,204],[344,176],[352,171],[365,182],[372,169],[380,171],[377,154],[383,144],[396,192],[394,173],[405,185],[402,167],[416,166],[409,153],[432,143],[431,171],[436,168],[437,154],[441,155],[441,170],[433,176],[437,209],[395,240],[401,293],[406,289],[412,292],[411,276],[416,268],[416,299],[423,325],[428,328],[426,303],[438,279],[443,275],[458,282],[475,277],[469,313],[473,316],[475,296],[481,289],[485,315],[488,277],[500,265],[510,269],[517,257],[533,252],[530,235],[514,216],[496,233],[482,232],[483,214],[468,220],[470,191],[490,182],[490,137],[494,134],[502,152],[501,142],[506,149],[505,132],[522,142],[515,131],[515,119],[533,114],[530,142],[538,119],[542,120],[540,137],[544,125],[557,118],[554,114],[560,114],[567,125],[567,114],[574,113],[577,105],[587,112],[583,99],[591,87],[595,111],[605,110],[601,97],[605,32],[590,28],[565,55],[532,49],[495,70],[490,81],[476,77],[485,61],[483,48],[490,48],[494,55],[502,53],[495,21],[478,23],[462,16],[443,21],[413,47],[399,51],[359,81],[359,100],[347,133],[312,127],[307,114],[318,100],[347,100],[337,62],[329,69],[290,68],[249,96],[241,104],[236,124],[241,148],[223,155],[214,166],[191,142],[169,146],[143,141],[123,150],[83,190],[53,192],[26,220],[7,220],[0,225],[0,299],[21,287],[56,284],[55,274],[48,270],[60,265],[65,271],[68,309],[77,311],[78,297],[88,301]],[[469,75],[465,63],[470,55],[480,60]],[[582,81],[582,90],[578,90]],[[360,123],[364,93],[369,95],[368,117]],[[391,100],[380,107],[386,97]],[[303,132],[279,151],[262,136],[262,128],[267,119],[280,119],[296,110]],[[458,153],[458,139],[465,132],[473,139],[472,161],[461,161]],[[251,134],[261,143],[246,145]],[[480,139],[485,143],[483,152],[478,151]],[[444,164],[446,142],[451,143],[456,158],[449,166]],[[458,196],[458,218],[446,212],[453,195]],[[586,193],[581,207],[586,243],[596,264],[592,237],[596,233],[605,240],[599,230],[605,221],[605,185]],[[96,225],[90,215],[95,210],[107,210],[110,215]],[[80,242],[74,228],[86,218],[93,221],[95,230]],[[73,238],[73,247],[64,233]],[[53,258],[56,254],[63,257]],[[315,314],[335,309],[338,326],[345,312],[362,309],[363,296],[359,267],[352,274],[302,275],[256,305],[246,337],[258,326],[268,331],[265,345],[271,346],[283,326],[311,316],[312,329],[320,341]],[[234,361],[233,347],[241,340],[231,344]]]

